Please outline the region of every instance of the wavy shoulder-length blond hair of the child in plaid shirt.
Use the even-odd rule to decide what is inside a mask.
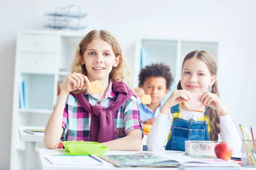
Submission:
[[[106,30],[90,31],[81,40],[76,50],[74,61],[71,65],[72,66],[71,73],[76,72],[76,73],[81,73],[87,76],[87,70],[86,70],[85,64],[82,65],[81,62],[83,59],[84,51],[86,51],[87,49],[87,45],[96,38],[100,38],[101,40],[108,42],[108,44],[112,46],[115,56],[116,57],[120,56],[119,64],[117,65],[117,67],[113,67],[112,71],[109,74],[109,80],[123,81],[124,79],[127,79],[127,81],[129,81],[128,77],[130,75],[130,71],[129,71],[125,56],[122,54],[121,46],[119,45],[119,42],[116,40],[113,34],[111,34],[109,31],[106,31]],[[79,94],[80,92],[84,92],[84,90],[73,91],[74,94]]]

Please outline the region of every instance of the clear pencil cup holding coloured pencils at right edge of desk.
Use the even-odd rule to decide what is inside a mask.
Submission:
[[[256,167],[256,140],[242,140],[241,165]]]

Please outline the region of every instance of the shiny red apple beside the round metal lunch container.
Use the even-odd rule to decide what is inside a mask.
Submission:
[[[217,158],[228,161],[231,159],[233,148],[231,144],[223,142],[215,146],[214,152]]]

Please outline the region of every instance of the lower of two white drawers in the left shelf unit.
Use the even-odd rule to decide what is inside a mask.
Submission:
[[[57,70],[55,54],[20,54],[20,72],[55,74]]]

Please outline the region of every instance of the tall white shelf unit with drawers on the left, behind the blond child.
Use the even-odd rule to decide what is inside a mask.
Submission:
[[[17,34],[10,170],[25,169],[25,144],[20,142],[19,127],[47,125],[57,97],[58,81],[70,74],[76,48],[86,34],[46,30],[27,30]],[[19,105],[22,80],[25,108]],[[36,150],[38,148],[44,148],[44,144],[37,143]],[[35,167],[39,168],[37,163]]]

